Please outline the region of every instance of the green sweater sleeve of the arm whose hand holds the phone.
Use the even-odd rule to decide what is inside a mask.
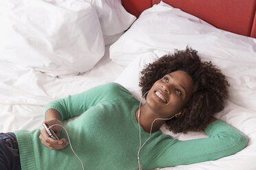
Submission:
[[[129,93],[128,90],[120,86],[120,84],[109,83],[102,86],[97,86],[90,90],[77,95],[69,95],[63,99],[50,102],[45,108],[45,113],[49,109],[57,110],[61,114],[62,121],[83,114],[92,106],[103,101],[111,101],[122,97],[124,93]]]

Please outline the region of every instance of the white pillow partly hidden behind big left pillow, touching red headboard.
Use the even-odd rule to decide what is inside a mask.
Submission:
[[[136,20],[122,7],[121,0],[85,0],[96,9],[105,45],[111,45]]]

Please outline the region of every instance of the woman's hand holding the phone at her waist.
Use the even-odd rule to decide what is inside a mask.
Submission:
[[[60,125],[62,125],[61,121],[59,121],[58,119],[52,119],[50,121],[44,121],[43,123],[47,124],[48,127],[50,127],[51,125],[54,125],[51,127],[51,129],[56,133],[56,135],[58,137],[61,136],[61,130],[62,127]],[[49,147],[50,149],[54,149],[54,150],[60,150],[65,148],[68,145],[68,142],[66,141],[65,138],[61,138],[60,140],[54,140],[52,139],[49,134],[47,134],[45,128],[43,128],[41,130],[41,134],[39,136],[39,138],[41,139],[43,145],[45,145],[46,147]]]

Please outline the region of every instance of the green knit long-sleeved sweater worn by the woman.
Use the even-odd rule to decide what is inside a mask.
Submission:
[[[84,93],[51,102],[61,113],[72,147],[83,160],[85,169],[138,169],[139,131],[135,112],[139,102],[116,83],[105,84]],[[141,128],[142,129],[142,128]],[[178,141],[160,131],[154,132],[140,151],[143,169],[187,165],[216,160],[246,147],[247,138],[223,121],[205,130],[209,138]],[[17,135],[22,170],[82,169],[70,145],[56,151],[45,147],[40,130],[19,130]],[[67,139],[65,131],[61,138]],[[141,132],[142,143],[149,133]]]

